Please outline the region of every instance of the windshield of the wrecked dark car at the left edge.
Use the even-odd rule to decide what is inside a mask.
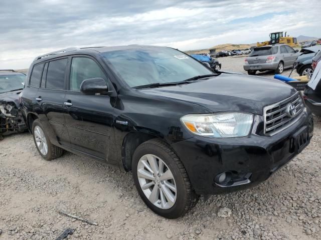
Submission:
[[[0,93],[24,88],[24,74],[0,75]]]

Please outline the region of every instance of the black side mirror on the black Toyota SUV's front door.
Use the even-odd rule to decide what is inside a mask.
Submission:
[[[108,93],[108,86],[101,77],[89,78],[82,81],[80,91],[85,95],[106,94]]]

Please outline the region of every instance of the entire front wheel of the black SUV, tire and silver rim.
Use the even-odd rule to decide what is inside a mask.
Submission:
[[[161,140],[151,139],[136,148],[132,174],[140,197],[158,215],[180,217],[198,201],[183,163]]]

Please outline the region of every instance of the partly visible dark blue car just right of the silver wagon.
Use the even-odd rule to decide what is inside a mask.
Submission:
[[[306,48],[302,48],[300,50],[300,55],[297,57],[295,60],[293,66],[296,70],[296,72],[300,76],[308,76],[309,78],[311,77],[313,73],[312,69],[312,58],[315,56],[316,52],[321,50],[321,45],[316,45],[316,46],[310,46]]]

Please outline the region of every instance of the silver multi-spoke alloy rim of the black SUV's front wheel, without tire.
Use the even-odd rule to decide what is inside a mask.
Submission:
[[[139,185],[155,206],[161,209],[171,208],[177,198],[177,187],[168,165],[153,154],[143,155],[137,164]]]

